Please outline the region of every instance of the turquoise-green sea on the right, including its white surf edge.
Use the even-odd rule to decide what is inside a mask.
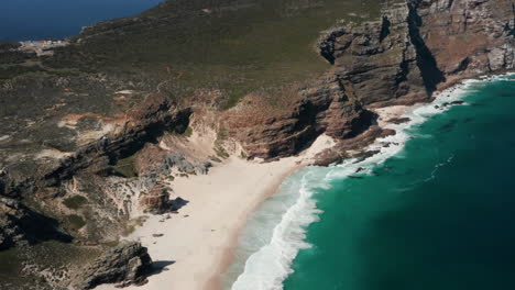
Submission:
[[[380,154],[291,176],[244,228],[224,288],[515,289],[514,112],[515,76],[469,80],[391,125]]]

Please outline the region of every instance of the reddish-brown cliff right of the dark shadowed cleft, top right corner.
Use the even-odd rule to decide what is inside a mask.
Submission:
[[[414,1],[410,7],[447,78],[514,68],[513,1]]]

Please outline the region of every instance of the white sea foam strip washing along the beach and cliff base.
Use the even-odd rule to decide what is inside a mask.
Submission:
[[[430,135],[413,134],[409,129],[414,129],[432,115],[448,110],[450,105],[443,105],[445,103],[461,100],[467,92],[474,90],[475,85],[500,78],[503,77],[464,80],[460,85],[438,93],[431,103],[409,109],[404,116],[409,118],[410,121],[404,124],[387,125],[387,129],[395,130],[397,134],[380,138],[370,145],[369,150],[379,150],[379,153],[365,160],[349,159],[341,165],[329,168],[305,168],[289,177],[280,192],[265,202],[254,214],[245,228],[240,238],[240,248],[237,255],[240,265],[238,266],[237,261],[232,269],[232,276],[238,276],[238,278],[232,286],[232,281],[228,282],[227,288],[232,290],[283,289],[284,279],[293,272],[291,265],[298,250],[310,247],[305,242],[306,227],[316,222],[321,212],[317,209],[314,199],[317,191],[329,188],[332,180],[357,175],[359,168],[365,168],[359,175],[370,174],[375,165],[384,163],[390,157],[402,157],[404,145],[409,138],[431,137]],[[385,147],[384,143],[390,143],[390,146]]]

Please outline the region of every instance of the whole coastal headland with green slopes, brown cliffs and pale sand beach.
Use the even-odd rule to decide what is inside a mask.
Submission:
[[[85,264],[139,239],[154,263],[141,289],[217,289],[246,216],[284,177],[368,158],[406,105],[513,70],[514,11],[177,0],[52,54],[1,43],[0,256],[15,259],[0,287],[84,285]],[[134,248],[120,253],[149,263]]]

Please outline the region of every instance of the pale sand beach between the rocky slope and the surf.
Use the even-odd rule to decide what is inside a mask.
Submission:
[[[153,260],[157,266],[165,266],[165,270],[151,276],[144,286],[127,289],[219,289],[218,278],[231,261],[238,234],[249,213],[275,193],[285,177],[332,145],[331,138],[320,136],[297,157],[262,164],[231,157],[206,176],[176,179],[174,196],[189,203],[179,214],[171,214],[169,220],[151,216],[129,236],[149,247]],[[164,236],[153,237],[153,234]],[[114,289],[114,286],[96,289]]]

